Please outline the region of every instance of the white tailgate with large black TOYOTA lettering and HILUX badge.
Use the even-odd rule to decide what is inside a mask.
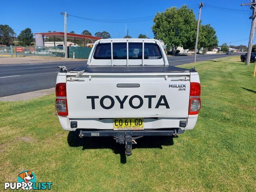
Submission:
[[[69,118],[187,118],[189,75],[82,76],[67,81]]]

